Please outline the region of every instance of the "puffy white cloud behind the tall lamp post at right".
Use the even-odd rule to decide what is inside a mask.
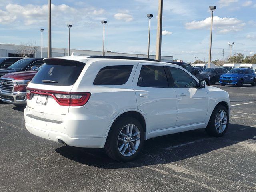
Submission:
[[[186,29],[209,29],[211,18],[208,17],[202,21],[192,21],[185,24]],[[231,31],[241,31],[245,23],[237,18],[220,18],[213,17],[213,29],[217,29],[219,33],[227,33]]]

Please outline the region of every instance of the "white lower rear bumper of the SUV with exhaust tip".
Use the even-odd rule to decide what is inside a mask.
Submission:
[[[26,129],[35,136],[59,143],[63,141],[65,144],[74,147],[103,148],[106,142],[106,137],[72,138],[61,132],[32,127],[28,122],[26,122],[25,126]]]

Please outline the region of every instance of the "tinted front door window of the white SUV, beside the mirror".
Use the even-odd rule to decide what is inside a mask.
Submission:
[[[170,70],[170,73],[172,74],[174,86],[176,88],[196,87],[196,80],[185,71],[174,67],[168,67],[168,70]]]

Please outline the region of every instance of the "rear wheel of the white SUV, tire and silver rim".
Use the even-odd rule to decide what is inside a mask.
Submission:
[[[132,161],[140,153],[143,142],[144,131],[140,122],[135,118],[125,117],[112,125],[105,150],[116,161]]]

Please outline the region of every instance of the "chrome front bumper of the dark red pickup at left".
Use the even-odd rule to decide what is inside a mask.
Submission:
[[[10,104],[26,104],[26,92],[0,91],[0,99]]]

